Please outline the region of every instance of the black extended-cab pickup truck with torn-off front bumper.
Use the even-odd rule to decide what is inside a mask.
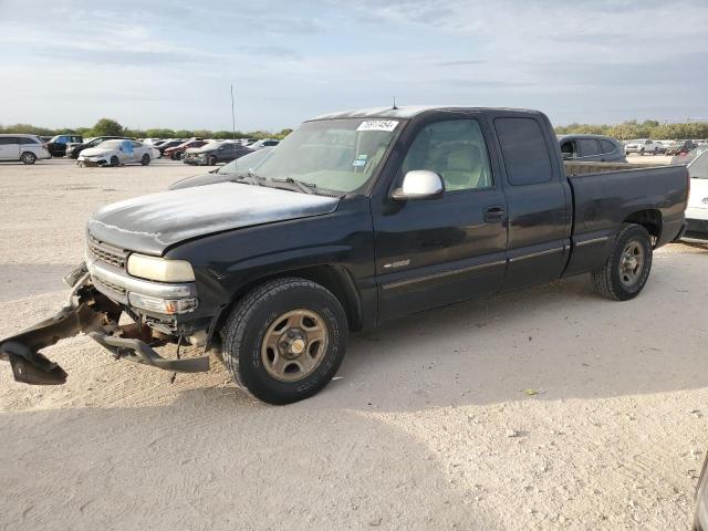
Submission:
[[[70,304],[0,355],[15,379],[52,384],[66,374],[40,348],[82,331],[116,358],[208,369],[179,356],[191,344],[287,404],[327,384],[350,331],[585,272],[608,299],[636,296],[687,197],[681,166],[564,164],[534,111],[329,114],[223,183],[96,212]]]

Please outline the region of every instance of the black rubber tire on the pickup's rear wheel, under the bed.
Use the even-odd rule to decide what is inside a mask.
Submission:
[[[632,273],[634,281],[626,275],[623,263],[628,248],[642,248],[643,258],[641,270]],[[652,271],[652,237],[641,225],[623,223],[615,237],[612,252],[605,264],[593,272],[593,284],[601,295],[615,301],[634,299],[644,289]],[[629,280],[629,282],[628,282]]]

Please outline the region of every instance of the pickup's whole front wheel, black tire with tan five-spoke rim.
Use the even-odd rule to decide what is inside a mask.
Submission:
[[[248,293],[221,336],[223,362],[241,388],[269,404],[291,404],[320,392],[335,375],[347,321],[325,288],[283,278]]]

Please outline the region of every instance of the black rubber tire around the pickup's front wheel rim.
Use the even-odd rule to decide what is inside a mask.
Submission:
[[[322,319],[329,334],[326,348],[310,374],[282,382],[269,374],[261,351],[269,330],[287,312],[296,310],[314,312]],[[233,308],[221,330],[223,363],[237,384],[256,398],[274,405],[291,404],[316,394],[336,374],[347,333],[346,314],[330,291],[305,279],[275,279],[250,291]]]

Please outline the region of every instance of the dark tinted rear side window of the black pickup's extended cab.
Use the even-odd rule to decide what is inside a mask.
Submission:
[[[535,119],[496,118],[494,129],[511,185],[535,185],[551,180],[551,156],[543,129]]]

